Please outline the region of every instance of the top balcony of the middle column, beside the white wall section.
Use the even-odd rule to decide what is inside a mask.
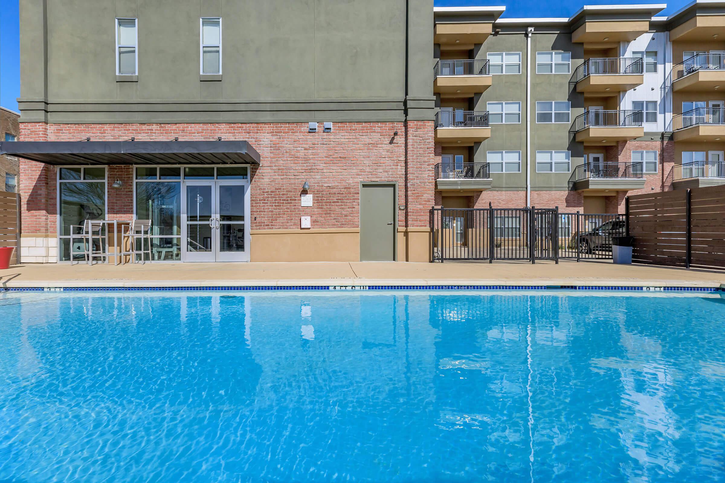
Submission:
[[[576,68],[570,83],[584,97],[618,96],[645,82],[642,59],[612,57],[584,61]]]

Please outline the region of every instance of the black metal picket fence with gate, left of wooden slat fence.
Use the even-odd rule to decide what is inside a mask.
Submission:
[[[431,208],[432,261],[611,259],[626,232],[623,214],[560,213],[558,208]]]

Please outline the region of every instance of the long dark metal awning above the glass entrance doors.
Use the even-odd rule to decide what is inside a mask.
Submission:
[[[260,164],[247,141],[5,141],[0,154],[45,164]]]

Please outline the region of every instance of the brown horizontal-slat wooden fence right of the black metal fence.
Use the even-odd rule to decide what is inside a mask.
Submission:
[[[632,261],[725,269],[725,186],[626,199]]]

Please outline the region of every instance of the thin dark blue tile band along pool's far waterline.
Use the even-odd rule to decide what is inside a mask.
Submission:
[[[281,290],[598,290],[626,292],[725,292],[721,287],[621,285],[199,285],[190,287],[0,287],[4,292],[268,292]]]

